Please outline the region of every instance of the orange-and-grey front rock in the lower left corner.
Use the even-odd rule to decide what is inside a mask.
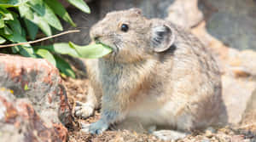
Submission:
[[[34,111],[29,99],[17,99],[12,90],[1,89],[1,141],[67,141],[67,128],[61,124],[48,125]]]

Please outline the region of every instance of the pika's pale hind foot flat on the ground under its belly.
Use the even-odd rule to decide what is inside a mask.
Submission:
[[[189,133],[174,131],[174,130],[159,130],[152,133],[158,139],[162,140],[177,140],[185,138]]]

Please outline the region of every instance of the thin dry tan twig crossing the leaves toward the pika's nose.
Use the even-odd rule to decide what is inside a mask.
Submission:
[[[12,43],[12,44],[0,45],[0,48],[14,47],[14,46],[17,46],[17,45],[24,45],[24,44],[39,43],[39,42],[48,40],[49,38],[59,37],[59,36],[65,35],[65,34],[67,34],[67,33],[73,33],[73,32],[79,32],[79,30],[64,31],[64,32],[55,34],[55,35],[53,35],[53,36],[43,37],[43,38],[40,38],[40,39],[38,39],[38,40],[29,41],[29,42],[26,42],[26,43]]]

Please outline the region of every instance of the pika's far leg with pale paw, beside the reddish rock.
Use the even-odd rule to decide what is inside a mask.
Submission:
[[[100,107],[100,99],[101,96],[97,96],[94,92],[94,89],[89,87],[88,88],[88,94],[86,96],[86,102],[82,103],[77,101],[76,107],[75,107],[75,116],[81,117],[81,118],[87,118],[89,116],[92,116],[94,114],[94,111]]]

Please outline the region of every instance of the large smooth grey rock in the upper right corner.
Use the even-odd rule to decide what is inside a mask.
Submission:
[[[256,2],[254,0],[201,0],[207,15],[207,31],[225,45],[256,49]]]

